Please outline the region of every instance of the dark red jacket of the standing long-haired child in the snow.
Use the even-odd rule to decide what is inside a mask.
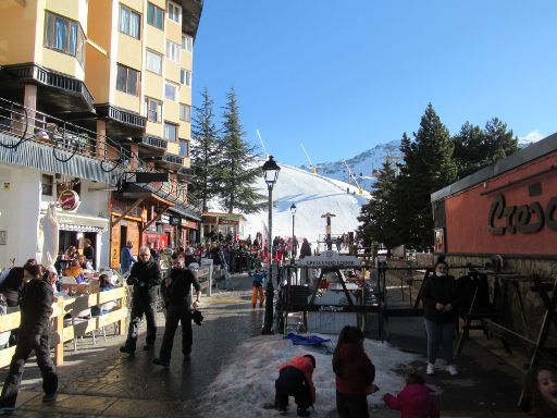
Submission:
[[[342,376],[336,374],[336,391],[345,395],[366,395],[366,386],[375,379],[375,366],[360,344],[341,347]]]

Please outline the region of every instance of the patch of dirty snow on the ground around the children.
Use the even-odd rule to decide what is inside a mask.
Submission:
[[[210,391],[196,403],[203,405],[207,417],[278,417],[278,411],[263,408],[264,404],[274,401],[274,381],[278,377],[278,367],[296,356],[312,354],[317,362],[313,372],[317,402],[315,413],[311,416],[336,417],[335,378],[331,366],[331,353],[336,344],[336,335],[320,336],[332,340],[329,349],[293,345],[282,335],[249,340],[237,348],[233,355],[235,361],[221,370],[211,383]],[[404,386],[404,377],[397,374],[395,370],[410,370],[412,361],[423,361],[423,358],[373,340],[366,340],[364,348],[375,365],[375,384],[380,386],[379,392],[368,396],[368,404],[374,409],[386,409],[382,401],[383,394],[398,393]],[[438,388],[432,389],[437,393],[440,391]],[[394,417],[398,415],[399,413],[388,414]],[[296,416],[292,397],[287,416]]]

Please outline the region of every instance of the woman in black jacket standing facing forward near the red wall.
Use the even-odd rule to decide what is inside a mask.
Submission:
[[[453,336],[457,321],[458,292],[455,278],[448,275],[448,265],[438,261],[435,275],[423,286],[423,318],[428,334],[428,374],[435,373],[435,358],[440,343],[443,347],[446,370],[451,376],[458,374],[453,364]]]

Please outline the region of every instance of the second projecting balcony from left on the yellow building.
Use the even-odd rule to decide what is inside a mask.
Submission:
[[[97,114],[107,120],[107,133],[113,139],[143,136],[147,119],[110,103],[95,104]]]

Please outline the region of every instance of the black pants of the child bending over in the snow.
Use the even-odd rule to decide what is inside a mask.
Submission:
[[[278,409],[286,409],[288,396],[294,396],[298,408],[305,409],[313,405],[309,384],[302,372],[295,367],[288,366],[281,370],[278,379],[274,382],[274,405]]]

